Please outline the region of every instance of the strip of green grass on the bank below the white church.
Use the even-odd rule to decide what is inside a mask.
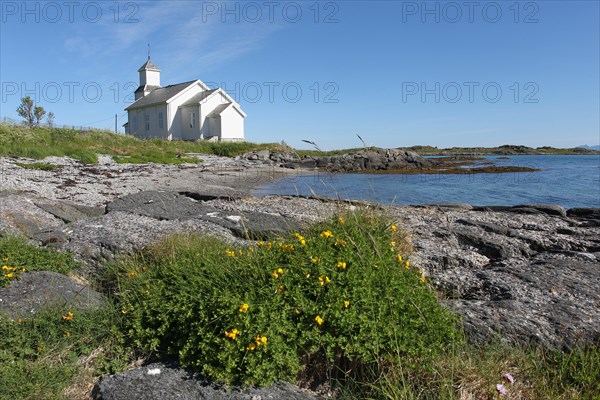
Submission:
[[[248,142],[140,140],[133,136],[116,135],[100,130],[28,129],[0,124],[0,156],[32,159],[67,156],[85,164],[98,162],[97,154],[114,156],[117,162],[121,163],[182,164],[202,162],[197,158],[186,157],[188,153],[234,157],[250,150],[280,147],[281,145],[277,144]]]

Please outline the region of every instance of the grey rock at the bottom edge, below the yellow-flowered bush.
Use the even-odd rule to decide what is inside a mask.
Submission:
[[[267,388],[230,388],[207,383],[175,365],[154,363],[133,371],[105,375],[94,387],[95,400],[315,400],[313,394],[286,382]]]

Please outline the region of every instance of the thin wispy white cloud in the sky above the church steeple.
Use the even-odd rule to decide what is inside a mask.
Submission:
[[[65,50],[83,58],[114,59],[130,56],[134,48],[143,46],[145,51],[145,44],[150,42],[152,49],[160,49],[160,58],[167,61],[165,67],[206,71],[258,48],[261,41],[280,29],[268,22],[232,23],[223,22],[219,16],[207,18],[202,3],[195,1],[135,4],[138,8],[132,18],[139,22],[124,23],[127,13],[122,12],[119,23],[112,15],[96,24],[80,23],[74,26],[74,35],[65,40]]]

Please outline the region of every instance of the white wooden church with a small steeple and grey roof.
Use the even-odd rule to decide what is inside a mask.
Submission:
[[[244,140],[246,113],[223,89],[200,80],[160,86],[160,69],[148,61],[138,70],[135,101],[125,109],[125,133],[140,139]]]

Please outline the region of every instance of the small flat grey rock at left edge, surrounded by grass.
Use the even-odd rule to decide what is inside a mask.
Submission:
[[[56,272],[26,272],[10,286],[0,288],[0,314],[9,318],[30,317],[55,307],[87,311],[103,304],[100,293]]]

